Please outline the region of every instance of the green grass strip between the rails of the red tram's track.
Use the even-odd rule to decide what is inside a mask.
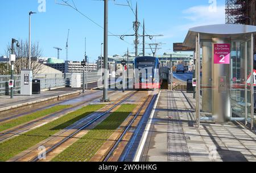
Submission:
[[[52,159],[53,162],[86,162],[109,139],[113,132],[123,123],[135,108],[135,105],[125,104],[102,121],[84,137],[69,146],[62,153]]]

